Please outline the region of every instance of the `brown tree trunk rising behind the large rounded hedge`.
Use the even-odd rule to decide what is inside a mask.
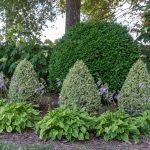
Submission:
[[[80,22],[81,0],[66,0],[66,29]]]

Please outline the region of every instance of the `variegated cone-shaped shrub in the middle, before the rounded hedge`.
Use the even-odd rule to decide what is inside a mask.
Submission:
[[[98,111],[100,107],[98,89],[92,75],[83,61],[77,60],[69,70],[60,93],[60,104],[78,108],[85,107],[89,112]]]

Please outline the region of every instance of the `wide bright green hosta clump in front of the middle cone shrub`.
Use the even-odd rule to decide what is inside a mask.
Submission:
[[[59,107],[49,111],[48,114],[37,123],[36,132],[41,139],[89,139],[89,130],[92,128],[94,117],[91,117],[84,109],[76,107]]]

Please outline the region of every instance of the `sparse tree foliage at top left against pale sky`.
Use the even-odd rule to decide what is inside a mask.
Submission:
[[[39,38],[46,22],[54,21],[56,4],[53,1],[0,1],[1,22],[4,33],[17,37]],[[25,19],[26,18],[26,19]]]

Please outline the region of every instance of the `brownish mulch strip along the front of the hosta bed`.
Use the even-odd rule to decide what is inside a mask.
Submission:
[[[33,130],[24,133],[2,133],[0,141],[14,143],[18,147],[24,146],[47,146],[51,145],[54,150],[150,150],[150,137],[143,137],[138,144],[134,142],[110,141],[105,142],[101,138],[93,138],[89,141],[43,141]]]

